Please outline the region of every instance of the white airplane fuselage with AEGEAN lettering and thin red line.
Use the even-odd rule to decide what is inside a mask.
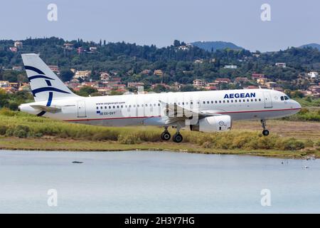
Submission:
[[[253,89],[57,98],[50,106],[60,107],[60,112],[44,116],[90,125],[165,126],[164,103],[168,103],[188,110],[230,115],[232,120],[267,120],[299,112],[301,105],[292,99],[282,99],[284,96],[277,90]],[[23,104],[20,108],[37,114],[30,105],[46,102]]]

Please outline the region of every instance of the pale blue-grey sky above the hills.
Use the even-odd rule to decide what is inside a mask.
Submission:
[[[49,21],[56,4],[57,21]],[[262,21],[262,4],[271,21]],[[0,39],[58,36],[169,46],[228,41],[250,51],[320,43],[319,0],[1,0]]]

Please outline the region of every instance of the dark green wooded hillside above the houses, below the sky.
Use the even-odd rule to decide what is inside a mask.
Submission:
[[[72,43],[73,49],[64,49],[64,43]],[[103,42],[105,43],[105,42]],[[271,81],[278,81],[279,86],[286,89],[304,89],[309,84],[297,81],[301,72],[319,70],[320,51],[316,48],[288,48],[284,51],[272,53],[259,53],[259,57],[245,49],[233,50],[225,48],[217,51],[205,51],[196,46],[184,50],[179,45],[185,45],[180,41],[174,41],[174,45],[165,48],[156,46],[139,46],[135,43],[94,43],[81,39],[65,41],[62,38],[28,38],[23,40],[23,49],[13,53],[9,47],[14,41],[0,41],[0,68],[11,69],[12,66],[22,66],[23,53],[41,53],[49,65],[58,65],[60,77],[64,81],[70,80],[72,73],[70,68],[78,70],[90,70],[90,79],[99,78],[101,71],[117,73],[124,83],[143,82],[149,89],[152,83],[174,82],[187,84],[193,79],[200,78],[213,81],[215,78],[247,77],[252,73],[264,73]],[[91,46],[97,47],[96,52],[90,52]],[[77,53],[76,48],[83,47],[86,53]],[[200,60],[202,63],[195,63]],[[285,62],[287,68],[278,68],[274,63]],[[237,69],[225,69],[225,65],[236,65]],[[141,72],[144,69],[151,70],[149,75]],[[154,76],[153,71],[160,69],[164,76]],[[0,70],[0,80],[26,81],[24,72]],[[223,89],[238,88],[240,85],[223,85]],[[243,85],[242,85],[243,86]]]

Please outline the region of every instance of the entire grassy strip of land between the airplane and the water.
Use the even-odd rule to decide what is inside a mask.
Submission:
[[[264,137],[258,121],[239,121],[225,133],[183,130],[183,143],[163,142],[161,128],[101,126],[65,123],[26,113],[0,110],[0,149],[7,150],[174,150],[208,154],[319,157],[320,123],[268,121]],[[171,130],[171,134],[174,130]]]

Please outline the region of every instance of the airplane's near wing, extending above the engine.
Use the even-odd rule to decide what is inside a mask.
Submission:
[[[188,109],[183,108],[180,105],[169,104],[161,100],[159,100],[159,102],[163,107],[165,107],[163,115],[167,118],[166,124],[192,119],[195,116],[198,119],[201,119],[212,115],[221,115],[220,113],[223,112],[223,110],[198,110],[197,108]]]

